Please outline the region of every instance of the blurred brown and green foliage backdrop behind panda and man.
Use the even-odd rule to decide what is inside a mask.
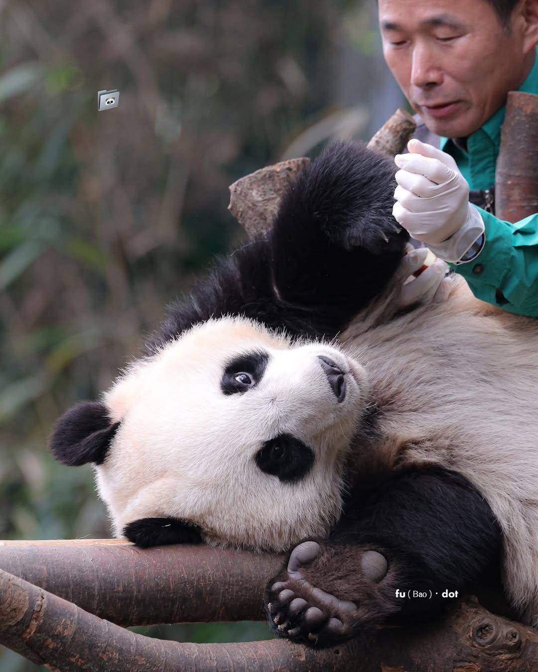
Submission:
[[[229,184],[404,104],[374,0],[0,0],[0,538],[110,536],[91,468],[47,452],[56,417],[244,237]],[[0,669],[36,666],[0,650]]]

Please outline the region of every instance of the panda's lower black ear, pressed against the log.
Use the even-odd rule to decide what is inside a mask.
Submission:
[[[201,544],[202,528],[179,518],[140,518],[128,523],[123,535],[141,548],[165,544]]]

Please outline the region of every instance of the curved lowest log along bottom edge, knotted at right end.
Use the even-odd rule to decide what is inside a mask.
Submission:
[[[124,630],[3,571],[0,644],[61,671],[531,672],[538,665],[538,634],[475,601],[454,607],[445,622],[383,628],[330,650],[282,640],[178,644]]]

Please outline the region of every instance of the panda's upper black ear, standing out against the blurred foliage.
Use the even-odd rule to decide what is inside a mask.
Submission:
[[[120,423],[97,401],[82,401],[66,411],[54,425],[50,448],[56,460],[68,466],[102,464]]]

